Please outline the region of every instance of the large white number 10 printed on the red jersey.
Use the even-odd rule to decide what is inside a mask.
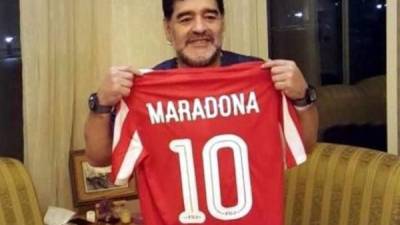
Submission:
[[[179,215],[179,220],[186,224],[203,223],[205,215],[199,210],[192,142],[190,139],[173,140],[169,147],[173,152],[179,154],[185,208]],[[232,150],[234,156],[237,204],[232,207],[224,207],[221,200],[218,151],[223,148]],[[204,145],[202,158],[207,207],[210,214],[220,220],[234,220],[244,217],[253,204],[247,145],[244,140],[232,134],[215,136]]]

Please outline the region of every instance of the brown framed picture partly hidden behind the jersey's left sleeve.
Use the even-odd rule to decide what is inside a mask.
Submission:
[[[84,150],[70,153],[70,175],[74,206],[88,206],[107,199],[137,198],[135,179],[124,186],[115,186],[108,177],[111,167],[92,167],[87,162]]]

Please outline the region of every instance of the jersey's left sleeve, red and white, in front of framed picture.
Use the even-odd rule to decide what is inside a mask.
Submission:
[[[125,185],[143,158],[143,145],[136,129],[134,114],[122,100],[115,118],[111,159],[111,181]]]

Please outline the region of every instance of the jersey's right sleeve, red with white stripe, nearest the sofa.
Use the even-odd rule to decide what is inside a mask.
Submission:
[[[307,154],[300,135],[300,121],[293,105],[282,93],[282,127],[285,141],[284,156],[286,168],[300,165],[307,159]]]

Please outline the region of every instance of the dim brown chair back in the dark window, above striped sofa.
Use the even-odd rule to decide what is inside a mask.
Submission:
[[[317,94],[320,132],[335,126],[386,124],[386,76],[355,85],[320,86]]]

